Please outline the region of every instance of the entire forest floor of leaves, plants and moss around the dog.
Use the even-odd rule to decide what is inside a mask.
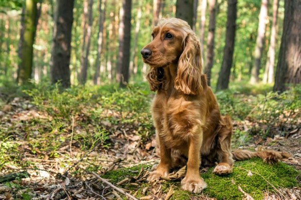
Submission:
[[[37,90],[41,92],[41,88]],[[266,129],[271,124],[279,134],[252,134],[254,127],[260,126],[258,120],[233,120],[233,149],[274,149],[287,151],[291,157],[275,165],[259,159],[236,162],[233,174],[226,177],[202,167],[208,188],[191,194],[180,189],[185,168],[175,169],[178,172],[165,179],[146,182],[148,170],[159,163],[149,113],[135,116],[140,121],[129,120],[133,113],[110,109],[104,102],[100,109],[94,103],[77,102],[78,98],[74,103],[82,107],[74,112],[77,107],[71,103],[68,112],[63,107],[66,102],[53,104],[68,96],[52,93],[54,101],[41,100],[33,97],[37,91],[30,91],[26,93],[31,97],[0,89],[0,199],[301,199],[299,110],[289,114],[294,123],[286,118],[284,133],[270,121],[262,125]],[[139,92],[151,98],[149,93]],[[118,104],[119,97],[113,103],[108,100],[109,106]],[[121,97],[127,98],[127,93]],[[251,179],[244,182],[248,177]]]

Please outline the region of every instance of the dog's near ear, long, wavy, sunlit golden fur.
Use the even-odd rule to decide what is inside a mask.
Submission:
[[[180,56],[175,88],[185,94],[201,94],[203,92],[201,45],[195,34],[188,33],[185,47]]]

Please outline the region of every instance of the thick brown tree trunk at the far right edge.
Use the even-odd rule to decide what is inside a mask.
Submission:
[[[275,74],[274,91],[287,83],[301,83],[301,0],[284,1],[283,32]]]

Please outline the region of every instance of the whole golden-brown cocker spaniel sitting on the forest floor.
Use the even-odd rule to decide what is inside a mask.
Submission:
[[[232,172],[234,159],[254,156],[273,162],[287,157],[276,151],[231,152],[232,123],[221,116],[206,75],[202,74],[200,42],[188,23],[178,18],[162,19],[153,30],[153,40],[141,54],[150,69],[150,89],[157,91],[152,114],[161,161],[148,180],[166,176],[170,168],[187,164],[182,188],[200,192],[206,183],[199,167],[218,164],[213,172]]]

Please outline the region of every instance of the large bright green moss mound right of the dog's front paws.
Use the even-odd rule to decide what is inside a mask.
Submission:
[[[249,170],[252,175],[248,176]],[[262,199],[263,191],[274,191],[273,186],[289,188],[297,185],[295,177],[298,173],[282,162],[269,165],[257,158],[237,161],[233,173],[229,175],[218,176],[212,174],[211,169],[204,173],[202,177],[208,184],[204,193],[218,199],[241,199],[242,192],[238,190],[241,186],[254,199]]]

